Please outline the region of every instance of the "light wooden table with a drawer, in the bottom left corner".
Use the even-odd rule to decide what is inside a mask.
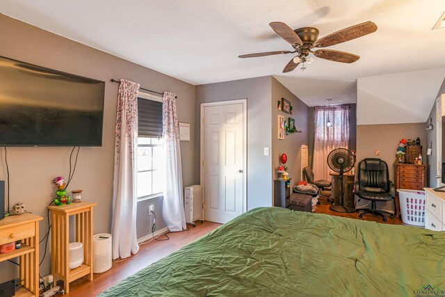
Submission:
[[[35,214],[0,220],[0,244],[22,241],[22,248],[0,255],[0,262],[20,257],[20,284],[15,296],[39,296],[39,220]]]

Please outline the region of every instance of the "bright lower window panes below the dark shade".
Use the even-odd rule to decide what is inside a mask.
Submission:
[[[161,138],[138,137],[138,199],[163,191]]]

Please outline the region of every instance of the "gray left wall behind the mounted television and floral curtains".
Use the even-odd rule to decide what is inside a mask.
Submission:
[[[189,122],[191,127],[195,127],[195,86],[4,15],[0,15],[0,36],[0,56],[106,82],[103,146],[81,148],[76,173],[69,190],[81,188],[84,200],[97,202],[94,232],[110,232],[115,114],[119,86],[118,83],[111,83],[110,80],[124,78],[136,81],[145,88],[158,91],[169,90],[176,93],[179,121]],[[44,217],[40,223],[40,238],[47,232],[46,209],[56,191],[52,180],[58,175],[68,177],[70,150],[70,147],[8,148],[10,204],[24,202],[28,211]],[[6,179],[4,150],[0,151],[0,179]],[[199,179],[195,179],[193,168],[195,166],[195,131],[193,129],[191,129],[191,141],[181,142],[181,158],[184,185],[196,184]],[[147,213],[148,204],[150,203],[142,202],[140,211],[145,212],[142,209],[146,209]],[[158,229],[164,227],[161,207],[156,207],[156,218],[158,218],[156,220]],[[139,215],[138,234],[148,232],[148,226],[145,224],[145,218],[141,220]],[[43,253],[44,245],[41,244],[40,248]],[[40,267],[40,274],[49,273],[49,259],[47,255]],[[2,269],[1,266],[0,269]]]

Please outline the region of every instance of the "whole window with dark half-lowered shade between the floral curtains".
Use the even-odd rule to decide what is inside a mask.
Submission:
[[[138,97],[138,200],[162,195],[162,102],[158,97]]]

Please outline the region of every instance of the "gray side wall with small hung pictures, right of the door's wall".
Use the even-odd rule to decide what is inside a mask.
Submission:
[[[284,113],[278,111],[277,103],[282,98],[288,99],[293,107],[293,113]],[[284,116],[286,120],[293,118],[297,130],[302,133],[288,134],[284,139],[278,139],[278,115]],[[287,155],[286,166],[289,170],[291,184],[302,180],[301,176],[301,145],[307,145],[309,142],[308,131],[309,107],[303,103],[296,95],[293,95],[277,79],[272,78],[272,176],[277,178],[277,167],[280,166],[280,156],[282,153]]]

